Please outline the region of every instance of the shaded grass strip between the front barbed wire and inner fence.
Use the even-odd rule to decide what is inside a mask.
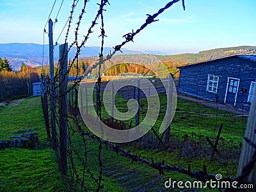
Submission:
[[[82,123],[81,123],[82,124]],[[83,125],[83,124],[82,124]],[[83,129],[86,131],[87,128],[83,126]],[[84,152],[84,143],[81,139],[81,136],[77,132],[74,133],[74,136],[72,136],[72,142],[74,143],[75,147],[77,148],[79,154],[83,156]],[[145,143],[146,145],[147,143]],[[173,152],[167,152],[167,151],[161,151],[161,150],[141,150],[139,147],[129,147],[127,144],[121,145],[123,148],[135,153],[135,154],[141,154],[141,157],[151,160],[151,158],[154,159],[155,162],[162,162],[164,159],[165,164],[171,164],[173,166],[179,166],[180,168],[188,168],[188,164],[191,164],[191,170],[202,170],[203,166],[207,166],[207,172],[208,173],[220,173],[223,175],[223,177],[236,177],[236,171],[237,171],[237,162],[234,161],[209,161],[207,158],[188,158],[188,157],[179,157],[178,151]],[[98,166],[98,160],[97,160],[97,148],[99,147],[99,143],[95,140],[86,138],[86,148],[90,152],[88,152],[87,156],[87,163],[90,170],[93,172],[95,177],[99,176],[99,166]],[[184,175],[179,172],[168,172],[164,171],[164,175],[159,175],[158,171],[154,168],[151,168],[150,166],[137,162],[131,164],[131,160],[127,159],[126,157],[117,156],[115,152],[106,149],[104,146],[102,148],[101,153],[102,162],[105,168],[108,168],[110,166],[113,166],[113,170],[132,170],[132,172],[140,171],[140,174],[132,179],[136,179],[138,177],[143,178],[142,183],[149,182],[150,180],[154,180],[156,178],[160,178],[161,182],[158,182],[155,184],[154,188],[152,188],[152,191],[158,191],[160,189],[163,189],[163,184],[165,180],[168,180],[169,178],[172,178],[172,180],[190,180],[193,181],[194,179]],[[80,177],[83,175],[83,166],[81,163],[79,163],[79,160],[77,157],[74,157],[75,164],[77,165],[77,171],[79,172]],[[128,188],[122,188],[123,182],[120,182],[118,180],[113,179],[114,176],[105,174],[102,177],[102,184],[104,184],[104,189],[108,191],[127,191]],[[88,174],[86,174],[86,178],[90,178]],[[132,180],[131,179],[131,180]],[[96,185],[93,184],[92,179],[86,180],[86,187],[88,191],[95,191]],[[132,186],[130,186],[132,187]],[[216,189],[206,189],[202,191],[217,191]]]

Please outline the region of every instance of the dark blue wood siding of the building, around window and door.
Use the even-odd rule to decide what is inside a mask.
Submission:
[[[217,93],[207,92],[209,74],[219,77]],[[225,102],[228,77],[240,80],[236,97],[237,108],[249,109],[248,93],[250,84],[256,78],[256,62],[237,56],[180,68],[179,92]]]

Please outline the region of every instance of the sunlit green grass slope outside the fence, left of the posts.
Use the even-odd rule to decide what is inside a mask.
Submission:
[[[0,191],[60,191],[60,174],[54,152],[48,147],[40,97],[19,106],[0,108],[0,140],[13,132],[37,128],[40,144],[34,150],[0,149]]]

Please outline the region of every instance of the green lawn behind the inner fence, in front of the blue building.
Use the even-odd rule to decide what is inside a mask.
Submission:
[[[111,92],[105,92],[104,94],[108,95],[109,100],[107,100],[107,102],[111,102]],[[102,93],[100,93],[100,98],[102,98]],[[127,101],[127,99],[124,99],[120,95],[115,95],[115,106],[122,113],[127,111]],[[157,131],[159,130],[166,113],[166,95],[160,93],[159,101],[162,110],[159,113],[159,118],[157,118],[156,124],[154,124],[154,128],[157,129]],[[95,103],[95,96],[93,97],[93,103]],[[140,106],[142,109],[140,111],[140,122],[142,122],[147,114],[148,104],[146,98],[140,100]],[[88,109],[89,113],[90,110],[95,111],[95,106],[94,108]],[[110,119],[110,115],[108,115],[104,106],[102,107],[101,113],[103,119]],[[129,120],[125,120],[124,123],[129,127],[131,121],[132,127],[135,127],[135,116]],[[243,143],[246,122],[247,116],[237,116],[228,111],[211,108],[203,104],[178,98],[177,109],[171,124],[171,133],[180,138],[182,138],[184,134],[188,134],[189,138],[193,140],[199,140],[205,136],[215,140],[218,134],[218,129],[220,125],[223,124],[221,140],[225,140],[227,143],[230,142],[232,144],[230,147],[234,147],[234,145],[239,147],[239,145]]]

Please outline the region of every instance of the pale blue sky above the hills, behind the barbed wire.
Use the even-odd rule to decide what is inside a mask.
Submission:
[[[62,0],[56,0],[51,18],[54,20]],[[120,44],[122,36],[132,29],[140,28],[147,19],[168,1],[129,0],[111,1],[104,12],[105,30],[108,38],[106,47]],[[0,43],[22,42],[48,44],[44,26],[51,12],[54,0],[1,0],[0,1]],[[79,40],[86,35],[90,22],[95,17],[99,1],[91,0],[86,8],[79,31]],[[127,49],[162,51],[168,54],[198,52],[218,47],[256,45],[255,0],[185,0],[186,10],[181,1],[159,15],[159,21],[150,24],[134,38]],[[64,0],[54,26],[54,41],[58,38],[68,19],[72,0]],[[74,14],[69,42],[74,40],[74,27],[82,9],[80,0]],[[88,40],[87,46],[99,46],[99,27]],[[47,29],[47,28],[46,28]],[[48,31],[48,29],[47,29]],[[63,43],[65,28],[58,40]]]

